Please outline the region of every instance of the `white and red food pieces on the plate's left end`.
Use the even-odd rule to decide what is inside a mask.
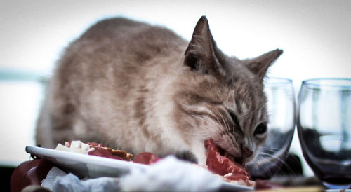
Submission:
[[[69,151],[74,153],[82,153],[91,156],[100,156],[105,158],[113,158],[117,160],[132,160],[133,154],[127,153],[119,149],[112,149],[103,144],[98,144],[95,142],[81,142],[81,141],[72,141],[65,142],[65,145],[58,144],[55,150],[60,151]]]

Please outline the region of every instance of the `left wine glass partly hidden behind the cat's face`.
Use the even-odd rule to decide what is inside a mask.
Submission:
[[[267,78],[268,136],[256,159],[248,164],[253,179],[270,179],[283,165],[295,130],[295,94],[288,78]]]

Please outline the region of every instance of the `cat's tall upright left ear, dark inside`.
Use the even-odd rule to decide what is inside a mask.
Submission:
[[[208,20],[202,16],[194,29],[192,40],[185,50],[184,64],[192,71],[220,75],[223,69],[216,58],[216,42],[213,40]]]

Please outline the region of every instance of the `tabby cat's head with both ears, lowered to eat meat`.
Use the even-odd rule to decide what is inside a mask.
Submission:
[[[206,17],[201,17],[185,51],[183,74],[176,93],[178,127],[188,141],[213,141],[247,163],[267,137],[268,115],[263,79],[282,54],[272,50],[239,60],[217,47]]]

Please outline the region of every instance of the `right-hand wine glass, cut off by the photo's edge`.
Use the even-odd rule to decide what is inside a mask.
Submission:
[[[298,96],[303,156],[326,188],[351,186],[351,79],[303,81]]]

